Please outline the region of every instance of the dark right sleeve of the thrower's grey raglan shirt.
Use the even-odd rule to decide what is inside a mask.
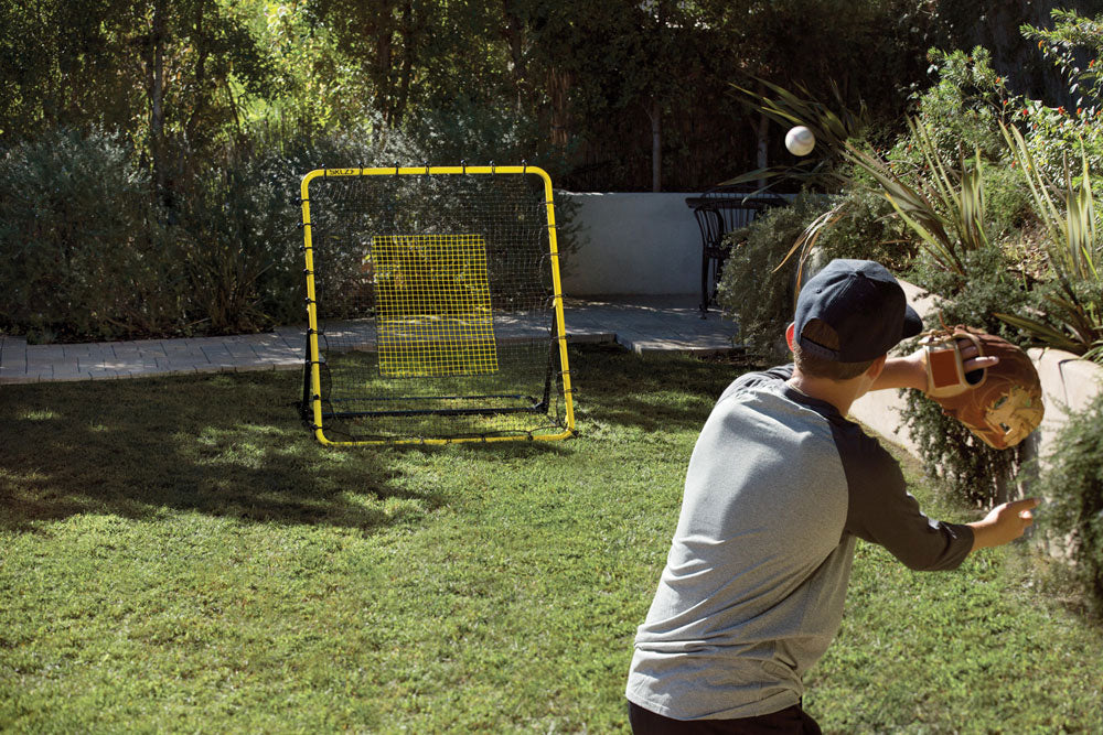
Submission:
[[[836,426],[835,443],[849,490],[845,530],[885,547],[908,569],[957,569],[973,549],[973,529],[924,516],[900,465],[857,425]]]

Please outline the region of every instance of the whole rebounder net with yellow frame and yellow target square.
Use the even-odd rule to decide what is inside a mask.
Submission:
[[[301,412],[324,443],[574,431],[552,183],[534,166],[302,180]]]

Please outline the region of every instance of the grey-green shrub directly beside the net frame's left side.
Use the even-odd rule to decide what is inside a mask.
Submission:
[[[377,121],[335,134],[251,131],[219,165],[179,185],[170,230],[191,289],[186,323],[226,334],[304,322],[302,176],[425,158],[410,137]]]

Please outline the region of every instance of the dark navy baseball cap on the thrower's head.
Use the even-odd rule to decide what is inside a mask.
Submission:
[[[838,334],[838,349],[801,336],[811,320]],[[793,339],[812,357],[864,363],[880,357],[901,339],[923,329],[923,320],[892,273],[872,260],[837,258],[812,277],[796,299]]]

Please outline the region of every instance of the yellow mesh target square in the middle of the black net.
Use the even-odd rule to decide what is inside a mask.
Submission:
[[[376,235],[368,259],[381,375],[497,371],[486,244],[481,235]]]

